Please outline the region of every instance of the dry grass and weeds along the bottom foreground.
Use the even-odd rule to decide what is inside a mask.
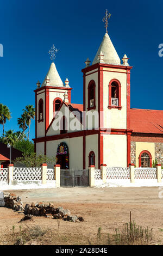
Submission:
[[[1,245],[149,245],[152,242],[152,229],[137,226],[135,222],[126,223],[121,231],[115,229],[115,233],[106,234],[98,228],[97,234],[90,237],[77,233],[60,233],[58,229],[41,228],[39,225],[32,227],[20,225],[19,230],[15,226],[7,229],[0,237]]]

